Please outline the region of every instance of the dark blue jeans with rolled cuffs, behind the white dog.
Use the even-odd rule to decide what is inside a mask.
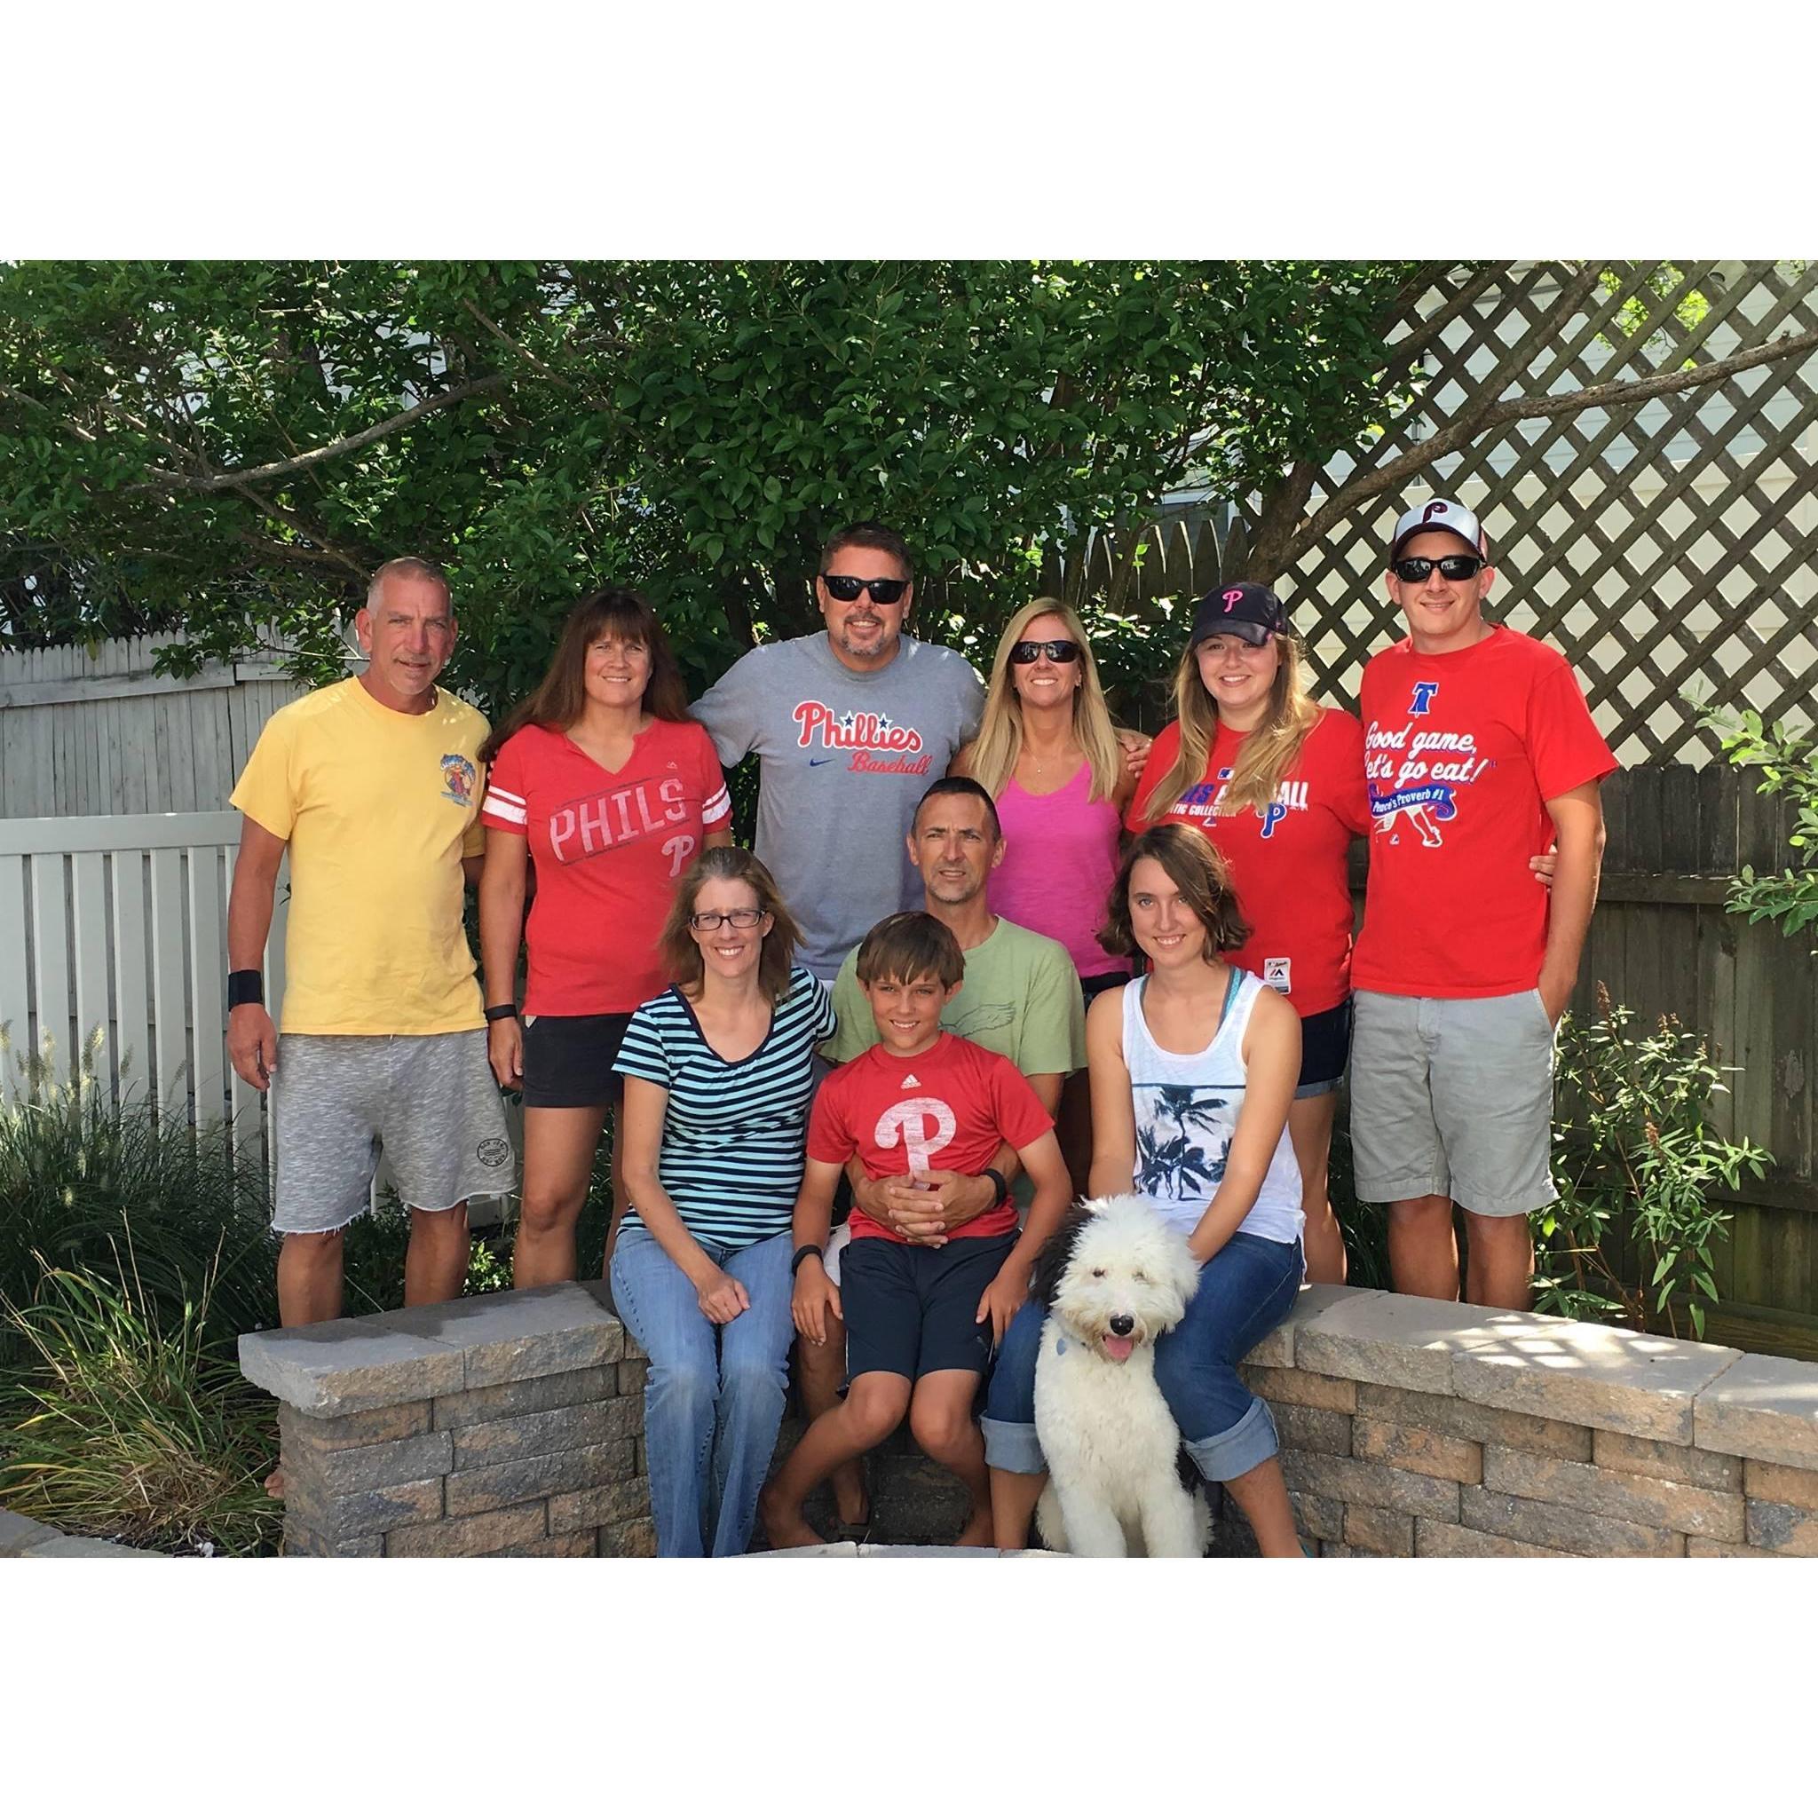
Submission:
[[[1300,1244],[1236,1233],[1200,1269],[1187,1316],[1154,1347],[1154,1380],[1189,1456],[1213,1483],[1254,1471],[1280,1449],[1269,1403],[1249,1393],[1238,1364],[1287,1318],[1304,1273]],[[1034,1358],[1047,1309],[1024,1302],[1004,1334],[985,1398],[985,1463],[1045,1471],[1034,1436]]]

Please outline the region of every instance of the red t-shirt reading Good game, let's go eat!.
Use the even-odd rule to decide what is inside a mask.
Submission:
[[[1496,625],[1462,651],[1411,638],[1364,667],[1371,842],[1358,991],[1498,998],[1533,991],[1549,894],[1529,858],[1547,802],[1616,769],[1571,664]]]

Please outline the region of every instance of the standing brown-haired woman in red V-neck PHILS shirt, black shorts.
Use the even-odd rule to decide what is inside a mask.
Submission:
[[[733,840],[733,804],[656,614],[607,587],[567,616],[536,693],[480,751],[487,765],[480,958],[487,1051],[524,1089],[524,1194],[513,1284],[574,1280],[613,1071],[631,1013],[669,984],[658,934],[676,880]],[[536,896],[524,929],[525,876]],[[513,1000],[529,942],[524,1014]],[[613,1147],[613,1238],[625,1194]]]

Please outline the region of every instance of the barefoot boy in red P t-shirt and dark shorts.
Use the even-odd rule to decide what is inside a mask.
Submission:
[[[1029,1269],[1060,1224],[1071,1182],[1054,1120],[1002,1054],[940,1027],[965,956],[924,911],[885,916],[858,947],[858,982],[878,1040],[827,1076],[809,1114],[807,1167],[794,1211],[794,1324],[824,1344],[827,1313],[845,1318],[845,1400],[802,1434],[758,1502],[773,1547],[820,1534],[802,1503],[829,1473],[882,1445],[904,1414],[916,1443],[965,1483],[962,1547],[991,1545],[985,1443],[973,1420],[991,1347],[1029,1298]],[[1000,1144],[1034,1184],[1029,1225],[998,1180],[998,1204],[934,1238],[905,1240],[853,1209],[836,1287],[822,1264],[833,1193],[853,1154],[873,1180],[929,1167],[989,1173]],[[844,1302],[844,1305],[842,1305]]]

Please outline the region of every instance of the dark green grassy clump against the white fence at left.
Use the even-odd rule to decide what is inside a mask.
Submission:
[[[233,1153],[220,1125],[198,1133],[144,1100],[111,1104],[98,1051],[96,1034],[71,1080],[55,1076],[49,1051],[16,1062],[27,1096],[0,1104],[0,1294],[31,1305],[47,1267],[109,1274],[131,1220],[140,1294],[165,1329],[189,1307],[205,1309],[207,1336],[227,1347],[275,1325],[264,1165]],[[0,1340],[0,1362],[9,1349],[16,1334]]]

